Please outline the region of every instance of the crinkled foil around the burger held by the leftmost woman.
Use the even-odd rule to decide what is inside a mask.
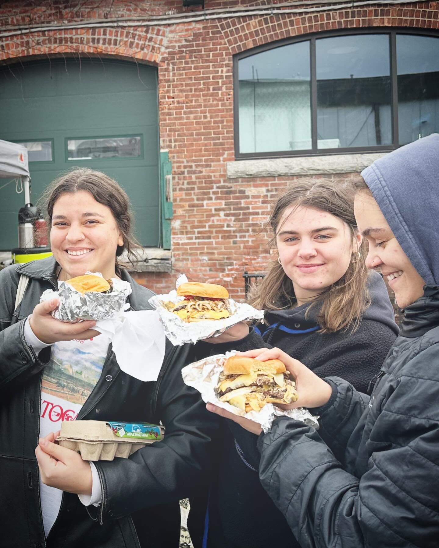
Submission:
[[[102,276],[100,272],[86,272],[94,276]],[[111,293],[88,292],[79,293],[67,282],[58,282],[58,291],[47,289],[40,297],[40,302],[54,297],[59,299],[59,306],[52,316],[61,322],[77,322],[81,319],[111,318],[125,308],[125,301],[132,292],[131,285],[119,278],[111,278]]]

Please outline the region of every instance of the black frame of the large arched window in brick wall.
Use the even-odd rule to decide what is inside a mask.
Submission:
[[[392,144],[360,146],[338,149],[318,149],[317,148],[317,72],[316,72],[316,40],[320,38],[331,38],[335,36],[355,36],[355,35],[389,35],[390,52],[390,93],[391,93],[391,125],[392,125]],[[341,154],[358,154],[370,152],[391,152],[398,149],[398,85],[396,71],[396,35],[416,35],[425,37],[434,37],[439,39],[439,32],[424,28],[407,27],[378,27],[378,28],[353,28],[340,29],[336,31],[313,32],[292,38],[285,38],[276,42],[270,42],[247,49],[244,52],[233,56],[233,124],[234,124],[234,149],[235,160],[264,159],[264,158],[290,158],[303,156],[329,156]],[[241,59],[245,59],[267,50],[282,47],[284,45],[295,44],[298,42],[310,42],[309,44],[309,62],[310,62],[310,102],[311,102],[311,142],[312,148],[306,150],[288,150],[288,151],[270,151],[270,152],[240,152],[239,151],[239,73],[238,64]]]

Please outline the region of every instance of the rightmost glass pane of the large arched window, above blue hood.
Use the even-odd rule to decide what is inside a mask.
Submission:
[[[439,132],[439,38],[396,35],[399,143]]]

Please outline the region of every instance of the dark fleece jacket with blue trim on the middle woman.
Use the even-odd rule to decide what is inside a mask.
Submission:
[[[272,327],[264,330],[262,336],[251,331],[235,343],[199,343],[198,352],[217,354],[278,346],[320,377],[342,376],[358,390],[366,391],[398,333],[389,294],[376,272],[370,273],[369,292],[372,304],[355,333],[317,333],[316,319],[306,319],[307,305],[302,305],[270,311],[266,317]],[[201,546],[204,534],[208,548],[266,548],[273,542],[273,530],[279,545],[298,546],[288,523],[258,480],[257,437],[227,420],[223,421],[222,435],[216,442],[217,462],[207,514],[207,493],[198,493],[191,500],[189,531],[195,547]],[[255,527],[255,516],[260,515],[263,520]]]

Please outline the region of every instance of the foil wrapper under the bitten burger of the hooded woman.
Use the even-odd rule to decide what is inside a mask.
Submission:
[[[244,416],[246,419],[259,423],[264,432],[268,432],[271,429],[273,420],[278,416],[289,416],[291,419],[300,420],[302,423],[318,430],[318,416],[312,415],[304,407],[284,410],[273,406],[272,403],[267,403],[260,411],[245,413],[227,402],[219,401],[215,393],[219,373],[223,370],[224,361],[228,357],[234,356],[235,353],[235,351],[232,351],[226,352],[226,354],[217,354],[216,356],[200,359],[199,362],[190,363],[188,366],[183,367],[182,375],[184,383],[198,390],[204,402],[213,403],[217,407],[222,407],[234,415]]]

